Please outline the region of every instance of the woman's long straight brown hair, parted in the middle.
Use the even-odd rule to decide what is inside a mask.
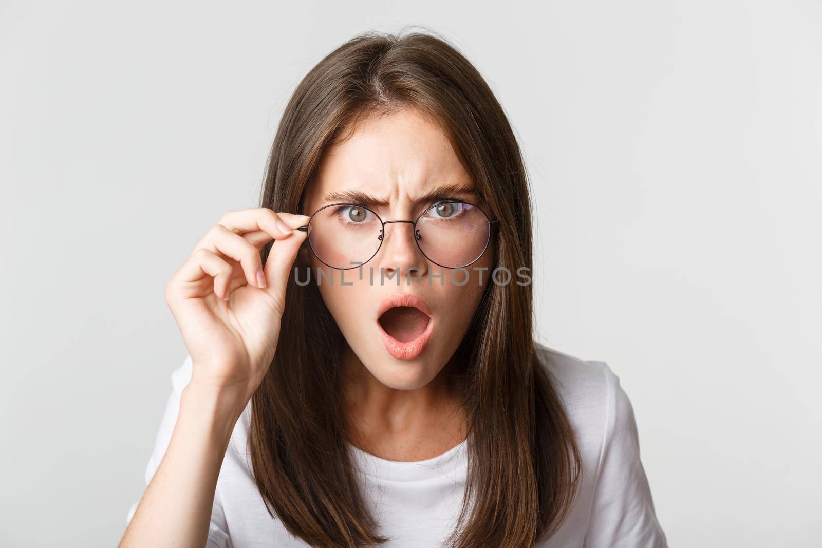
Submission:
[[[299,83],[279,123],[261,206],[301,212],[327,147],[350,136],[364,117],[416,108],[440,123],[478,196],[502,221],[494,267],[530,271],[529,183],[503,108],[447,39],[405,30],[357,35]],[[270,244],[264,261],[269,251]],[[295,268],[309,266],[298,259]],[[451,358],[468,420],[469,464],[447,546],[533,546],[556,532],[575,502],[580,452],[535,352],[532,314],[530,284],[489,283]],[[389,540],[377,532],[349,454],[344,343],[316,284],[289,277],[277,352],[252,397],[249,449],[272,518],[311,546]]]

